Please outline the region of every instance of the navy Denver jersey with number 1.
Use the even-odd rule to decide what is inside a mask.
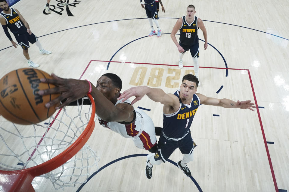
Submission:
[[[189,105],[183,104],[179,97],[179,91],[174,93],[180,101],[179,110],[172,114],[163,114],[163,135],[168,140],[181,140],[189,133],[200,105],[200,99],[196,94]]]

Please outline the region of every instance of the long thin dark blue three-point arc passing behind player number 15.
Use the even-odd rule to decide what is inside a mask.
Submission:
[[[147,19],[147,18],[133,18],[133,19]],[[75,29],[75,28],[85,27],[85,26],[90,26],[90,25],[96,25],[96,24],[100,24],[100,23],[113,22],[113,21],[125,21],[125,20],[133,20],[133,19],[118,19],[118,20],[112,20],[112,21],[103,21],[103,22],[98,22],[98,23],[91,23],[91,24],[87,24],[87,25],[82,25],[82,26],[72,27],[72,28],[68,28],[68,29],[63,29],[63,30],[56,31],[56,32],[53,32],[53,33],[48,33],[46,35],[51,35],[51,34],[54,34],[54,33],[62,32],[62,31],[70,30],[70,29]],[[176,18],[176,17],[160,17],[160,19],[179,19],[179,18]],[[229,24],[229,23],[223,23],[223,22],[217,22],[217,21],[209,21],[209,20],[203,20],[203,21],[222,23],[222,24],[232,25],[232,26],[237,26],[237,27],[243,27],[243,26],[238,26],[238,25]],[[269,34],[269,35],[273,35],[273,36],[278,37],[278,38],[286,39],[286,38],[283,38],[283,37],[280,37],[280,36],[277,36],[277,35],[274,35],[274,34],[271,34],[271,33],[263,32],[263,31],[260,31],[260,30],[257,30],[257,29],[252,29],[252,28],[249,28],[249,27],[243,27],[243,28],[251,29],[251,30],[254,30],[254,31],[258,31],[258,32]],[[41,35],[41,36],[39,36],[37,38],[44,37],[46,35]],[[286,40],[289,41],[289,39],[286,39]],[[5,47],[3,49],[0,49],[0,51],[2,51],[4,49],[7,49],[9,47],[13,47],[13,45]]]

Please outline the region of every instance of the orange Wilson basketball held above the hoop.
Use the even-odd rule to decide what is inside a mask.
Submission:
[[[56,111],[55,106],[45,104],[60,94],[38,95],[42,89],[55,85],[40,82],[52,77],[42,70],[21,68],[4,75],[0,80],[0,114],[5,119],[22,125],[31,125],[48,119]]]

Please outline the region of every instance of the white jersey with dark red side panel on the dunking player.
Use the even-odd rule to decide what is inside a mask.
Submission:
[[[118,100],[115,106],[119,103],[122,103],[122,99]],[[123,103],[131,104],[131,101],[128,99]],[[99,117],[98,121],[103,127],[109,128],[112,131],[119,133],[125,138],[130,138],[138,137],[141,134],[144,126],[144,118],[146,118],[147,116],[148,115],[145,114],[143,111],[135,109],[132,122],[106,122]]]

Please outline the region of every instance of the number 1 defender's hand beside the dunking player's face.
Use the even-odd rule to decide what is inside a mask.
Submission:
[[[135,99],[132,101],[132,104],[135,102],[141,100],[143,96],[146,94],[146,86],[139,86],[139,87],[132,87],[127,90],[125,90],[117,100],[123,99],[123,101],[126,101],[132,96],[135,96]]]

